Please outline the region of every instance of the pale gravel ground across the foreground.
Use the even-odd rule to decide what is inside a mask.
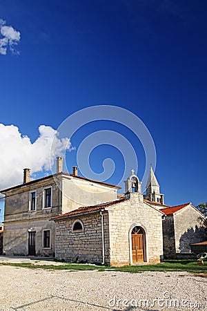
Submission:
[[[0,311],[207,309],[207,279],[187,272],[0,270]]]

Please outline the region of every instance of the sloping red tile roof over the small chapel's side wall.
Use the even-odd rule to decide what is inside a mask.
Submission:
[[[120,202],[124,202],[126,201],[125,199],[121,199],[121,200],[115,200],[115,201],[111,201],[111,202],[106,202],[106,203],[101,203],[99,205],[90,205],[90,206],[84,206],[84,207],[79,207],[79,209],[75,209],[73,211],[69,211],[66,214],[61,214],[55,217],[52,217],[52,220],[56,220],[59,218],[65,218],[68,216],[75,216],[78,214],[86,214],[86,213],[90,213],[92,211],[99,211],[100,209],[105,209],[105,207],[111,206],[111,205],[115,205],[117,203]]]

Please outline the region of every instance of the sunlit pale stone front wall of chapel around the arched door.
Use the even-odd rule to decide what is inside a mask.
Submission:
[[[144,203],[142,194],[131,193],[130,200],[108,207],[110,265],[132,264],[131,230],[146,232],[146,262],[159,263],[163,256],[161,212]]]

